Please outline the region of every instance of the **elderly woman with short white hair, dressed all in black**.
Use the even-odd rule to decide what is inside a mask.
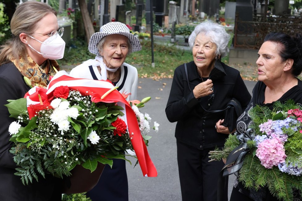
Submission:
[[[225,109],[233,98],[244,110],[251,99],[240,72],[220,61],[229,52],[229,39],[224,27],[211,21],[200,23],[189,37],[193,61],[174,71],[166,115],[170,122],[177,122],[175,137],[183,201],[216,200],[218,174],[224,163],[208,162],[208,153],[223,147],[234,130],[224,125],[223,112],[215,111]]]

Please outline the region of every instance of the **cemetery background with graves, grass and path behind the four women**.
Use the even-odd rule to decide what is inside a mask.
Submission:
[[[61,19],[60,26],[65,27],[63,38],[66,42],[65,56],[64,59],[58,60],[62,69],[68,71],[82,61],[94,58],[94,55],[90,54],[87,49],[87,37],[85,36],[85,27],[82,21],[81,10],[77,4],[78,2],[76,0],[44,1],[58,10]],[[6,6],[3,6],[3,2]],[[10,37],[9,18],[7,16],[9,13],[5,8],[12,2],[19,3],[19,0],[2,0],[0,2],[0,41]],[[230,66],[237,68],[245,80],[256,80],[257,67],[255,62],[257,60],[258,46],[255,45],[257,44],[256,42],[261,42],[263,39],[258,37],[257,41],[255,40],[257,26],[261,27],[261,34],[265,35],[266,31],[274,30],[275,28],[281,30],[280,24],[282,24],[281,28],[285,31],[289,28],[283,26],[284,24],[302,24],[299,12],[301,0],[295,0],[294,4],[290,4],[290,1],[287,0],[271,0],[267,1],[267,4],[265,0],[237,0],[236,2],[199,0],[198,4],[195,4],[195,0],[179,0],[176,3],[170,4],[167,0],[154,0],[152,2],[155,7],[153,9],[154,23],[152,23],[152,26],[153,49],[156,56],[154,58],[155,68],[151,68],[151,19],[150,15],[148,15],[151,11],[149,9],[149,0],[144,2],[141,0],[130,1],[130,7],[126,4],[126,2],[129,2],[128,0],[111,0],[109,5],[105,5],[106,0],[87,0],[85,2],[94,31],[99,31],[99,27],[103,24],[101,22],[115,20],[129,24],[133,33],[138,31],[138,37],[141,33],[142,37],[139,38],[143,50],[128,55],[126,62],[138,68],[140,76],[139,86],[141,87],[138,91],[138,98],[154,94],[152,95],[153,101],[146,106],[146,108],[151,108],[151,110],[147,109],[146,112],[150,115],[153,114],[154,121],[157,121],[157,114],[161,114],[158,119],[159,122],[162,122],[161,132],[160,134],[156,134],[158,138],[154,136],[157,140],[155,139],[152,142],[153,139],[151,139],[149,148],[150,152],[153,153],[152,158],[154,158],[153,160],[155,160],[156,165],[159,164],[159,177],[142,177],[139,167],[132,170],[133,166],[128,165],[129,189],[131,189],[129,190],[131,192],[129,195],[130,200],[180,200],[178,174],[176,174],[178,170],[175,152],[176,146],[174,143],[175,125],[167,122],[163,111],[167,96],[169,95],[170,78],[173,76],[174,69],[184,62],[192,60],[191,50],[185,42],[188,32],[190,32],[190,29],[192,30],[192,27],[194,28],[206,19],[225,26],[233,40],[229,43],[231,52],[226,58],[223,58],[223,61],[225,63],[230,62]],[[136,2],[136,4],[133,2]],[[69,5],[71,6],[69,7]],[[108,8],[107,12],[99,9],[106,6]],[[270,15],[264,14],[267,13],[267,10],[271,12]],[[277,19],[273,17],[273,14],[277,14],[279,17],[282,15],[282,19],[278,18],[280,24],[269,26],[270,29],[264,31],[267,23],[272,23],[273,20]],[[238,30],[238,23],[239,25],[241,23],[241,27],[244,27],[242,30]],[[173,36],[174,33],[172,33],[173,26],[175,26],[175,37]],[[296,28],[294,32],[301,30],[299,26]],[[237,33],[240,31],[240,33],[235,35],[236,31]],[[147,35],[148,37],[144,37],[145,35],[142,33],[148,33],[149,35]],[[255,48],[242,48],[242,46],[250,45],[254,45]],[[147,77],[153,80],[142,79]],[[253,84],[251,84],[251,88],[252,86]],[[152,108],[156,108],[159,112],[154,113]],[[165,137],[162,138],[164,135]],[[164,152],[162,152],[163,150]],[[164,158],[162,156],[167,157]],[[132,162],[135,163],[135,161]],[[162,184],[167,181],[169,183]],[[159,194],[158,192],[161,193]],[[153,199],[152,194],[154,194],[154,198],[161,199]],[[145,196],[149,196],[149,199],[142,199]]]

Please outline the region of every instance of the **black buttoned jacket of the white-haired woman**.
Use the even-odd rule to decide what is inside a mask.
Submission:
[[[240,103],[242,111],[248,105],[251,95],[248,92],[239,71],[224,63],[215,67],[210,73],[213,81],[212,95],[196,99],[193,89],[202,82],[193,61],[187,63],[187,83],[184,65],[178,66],[174,71],[169,100],[166,106],[166,115],[170,122],[177,121],[175,137],[179,142],[185,143],[194,148],[203,150],[223,146],[226,134],[217,133],[215,124],[223,119],[223,113],[207,113],[206,110],[220,110],[234,97]],[[205,81],[205,78],[203,78]]]

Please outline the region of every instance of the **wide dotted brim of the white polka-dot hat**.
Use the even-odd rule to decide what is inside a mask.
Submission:
[[[89,44],[88,44],[88,50],[95,55],[99,55],[99,50],[97,45],[99,44],[100,40],[107,35],[112,35],[112,34],[120,34],[120,35],[124,35],[126,36],[129,40],[130,40],[130,44],[132,46],[132,52],[135,51],[140,51],[141,50],[141,43],[138,40],[138,38],[136,38],[135,35],[131,34],[131,33],[127,33],[127,32],[116,32],[116,33],[102,33],[102,32],[96,32],[94,33],[89,40]]]

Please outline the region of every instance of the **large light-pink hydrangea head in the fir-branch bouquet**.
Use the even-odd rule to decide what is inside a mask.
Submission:
[[[273,166],[285,162],[286,155],[283,143],[279,138],[266,139],[259,143],[256,156],[260,159],[261,165],[271,169]]]

